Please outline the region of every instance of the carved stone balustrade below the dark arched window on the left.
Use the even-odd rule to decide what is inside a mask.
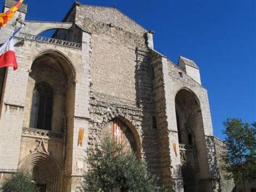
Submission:
[[[24,137],[35,137],[38,139],[56,139],[61,140],[63,137],[62,132],[53,132],[42,129],[34,129],[34,128],[22,128],[22,136]]]

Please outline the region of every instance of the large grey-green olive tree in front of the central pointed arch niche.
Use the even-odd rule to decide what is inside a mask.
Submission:
[[[156,192],[160,191],[147,173],[144,161],[125,146],[106,137],[103,144],[88,151],[90,169],[83,176],[80,192]]]

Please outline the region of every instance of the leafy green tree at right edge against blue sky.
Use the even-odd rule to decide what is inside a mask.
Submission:
[[[256,123],[248,124],[241,119],[227,119],[224,123],[227,144],[224,169],[229,173],[226,178],[234,178],[243,183],[253,181],[256,175]]]

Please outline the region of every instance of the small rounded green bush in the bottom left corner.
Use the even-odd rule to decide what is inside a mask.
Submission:
[[[0,188],[1,192],[39,192],[32,183],[31,176],[18,171],[13,174]]]

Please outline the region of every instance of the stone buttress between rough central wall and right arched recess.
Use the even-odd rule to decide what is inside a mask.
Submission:
[[[157,135],[160,144],[161,181],[168,191],[183,192],[175,103],[171,97],[167,59],[153,53],[154,95],[156,103]]]

